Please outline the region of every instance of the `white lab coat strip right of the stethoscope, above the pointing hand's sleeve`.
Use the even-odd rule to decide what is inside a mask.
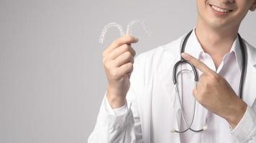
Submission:
[[[247,71],[244,80],[243,100],[252,107],[256,98],[256,50],[247,44]]]

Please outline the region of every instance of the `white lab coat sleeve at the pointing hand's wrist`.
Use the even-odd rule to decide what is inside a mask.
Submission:
[[[239,143],[256,143],[256,114],[251,107],[247,106],[244,116],[231,131]]]

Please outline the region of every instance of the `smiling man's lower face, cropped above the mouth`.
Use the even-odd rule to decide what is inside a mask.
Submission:
[[[218,29],[238,29],[256,0],[197,0],[198,20]]]

